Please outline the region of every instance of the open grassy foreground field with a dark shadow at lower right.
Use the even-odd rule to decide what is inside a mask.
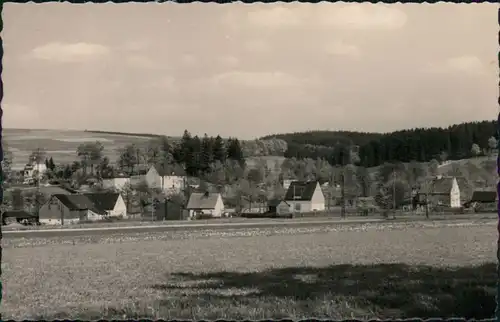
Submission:
[[[495,225],[4,239],[3,318],[490,318]]]

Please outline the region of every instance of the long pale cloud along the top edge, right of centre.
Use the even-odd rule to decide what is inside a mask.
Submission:
[[[382,4],[294,4],[266,5],[237,16],[229,12],[224,21],[233,28],[246,22],[250,26],[270,29],[296,27],[338,28],[351,30],[398,29],[406,24],[406,14]]]

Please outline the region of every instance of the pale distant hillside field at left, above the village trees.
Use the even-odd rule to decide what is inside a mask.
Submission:
[[[77,159],[76,149],[85,142],[99,141],[104,145],[104,155],[111,162],[118,157],[118,150],[130,143],[144,143],[150,138],[72,130],[4,129],[3,138],[14,155],[13,169],[22,169],[28,157],[37,148],[54,158],[55,163],[71,163]]]

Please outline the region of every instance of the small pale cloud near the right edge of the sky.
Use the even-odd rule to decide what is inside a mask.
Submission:
[[[482,75],[485,72],[483,62],[478,57],[469,55],[451,57],[441,63],[429,64],[424,70],[430,73],[459,72],[468,75]]]

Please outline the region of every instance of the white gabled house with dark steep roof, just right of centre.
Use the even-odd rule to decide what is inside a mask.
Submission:
[[[277,208],[278,213],[324,211],[325,196],[317,181],[293,181]]]

